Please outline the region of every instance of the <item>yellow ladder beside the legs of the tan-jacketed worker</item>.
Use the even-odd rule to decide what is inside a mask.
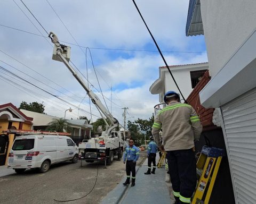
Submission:
[[[191,204],[208,204],[220,162],[225,151],[215,147],[204,146],[197,160],[197,174],[201,174]]]

